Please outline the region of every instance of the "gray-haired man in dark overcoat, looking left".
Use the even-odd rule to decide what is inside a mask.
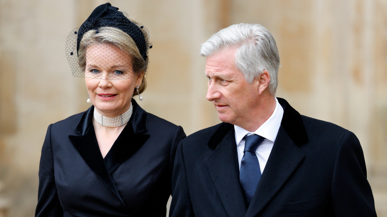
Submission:
[[[266,28],[232,25],[200,54],[222,123],[179,144],[170,216],[376,216],[356,136],[275,98],[279,55]]]

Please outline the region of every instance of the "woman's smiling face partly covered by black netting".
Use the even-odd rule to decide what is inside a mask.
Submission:
[[[130,108],[133,91],[141,85],[143,76],[135,74],[131,60],[130,55],[108,43],[87,48],[85,83],[91,103],[100,114],[115,117]]]

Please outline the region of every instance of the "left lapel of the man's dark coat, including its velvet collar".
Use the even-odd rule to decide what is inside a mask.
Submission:
[[[222,123],[208,142],[213,149],[206,166],[216,192],[228,216],[246,213],[246,205],[239,183],[239,167],[233,125]]]

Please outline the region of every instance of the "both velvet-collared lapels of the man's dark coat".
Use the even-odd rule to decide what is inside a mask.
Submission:
[[[221,123],[208,141],[209,148],[214,151],[206,159],[207,169],[215,189],[219,189],[217,193],[229,216],[238,216],[241,213],[246,213],[246,217],[256,216],[304,159],[299,147],[308,142],[308,136],[301,115],[284,99],[277,99],[284,109],[284,114],[265,172],[262,173],[257,187],[259,194],[255,194],[252,200],[252,204],[257,206],[246,208],[239,184],[238,163],[229,160],[236,159],[234,126]],[[222,178],[224,174],[227,174],[227,179]]]

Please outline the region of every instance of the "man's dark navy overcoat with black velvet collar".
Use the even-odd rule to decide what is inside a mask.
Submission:
[[[250,207],[239,183],[234,126],[221,123],[179,144],[170,216],[376,216],[356,136],[278,101],[281,126]]]

